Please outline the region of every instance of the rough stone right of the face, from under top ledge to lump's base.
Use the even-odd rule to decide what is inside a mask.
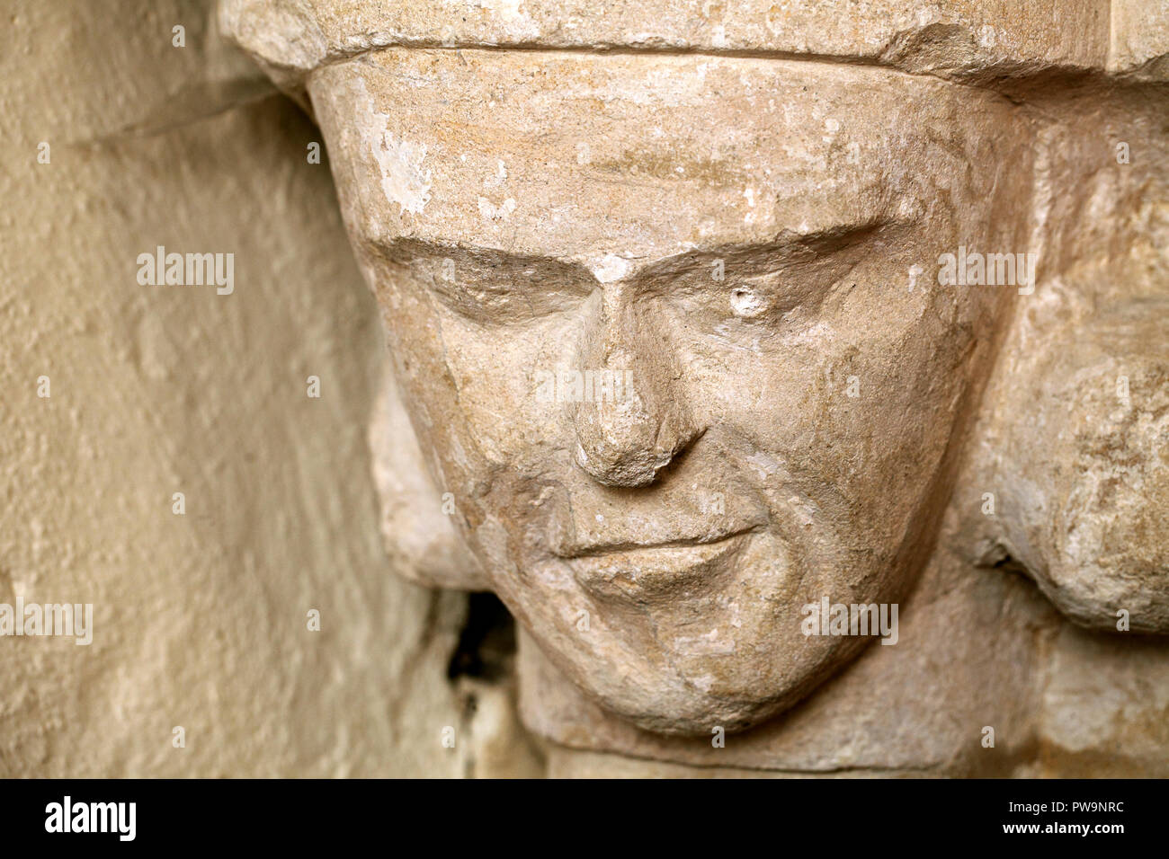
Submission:
[[[1137,92],[1036,111],[1043,277],[980,422],[970,504],[994,493],[996,513],[971,556],[1022,564],[1082,625],[1115,631],[1123,610],[1132,630],[1165,632],[1169,138],[1164,102]]]

